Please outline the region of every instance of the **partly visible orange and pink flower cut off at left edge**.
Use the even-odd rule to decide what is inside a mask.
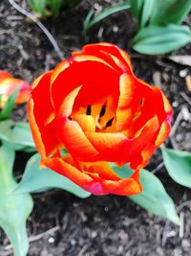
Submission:
[[[14,79],[7,71],[0,70],[0,107],[3,108],[11,94],[20,86],[15,104],[26,103],[30,98],[31,86],[27,81]]]

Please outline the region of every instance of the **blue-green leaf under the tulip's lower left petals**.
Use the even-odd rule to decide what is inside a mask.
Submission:
[[[39,161],[38,153],[32,155],[27,163],[22,180],[15,189],[16,193],[42,192],[52,188],[60,188],[73,193],[79,198],[87,198],[91,195],[68,178],[58,175],[48,168],[40,169]]]

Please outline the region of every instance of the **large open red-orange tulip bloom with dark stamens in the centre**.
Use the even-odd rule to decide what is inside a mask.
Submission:
[[[172,108],[135,77],[123,50],[99,43],[34,81],[28,113],[42,166],[96,195],[133,195],[138,170],[169,134]],[[108,162],[135,172],[120,178]]]

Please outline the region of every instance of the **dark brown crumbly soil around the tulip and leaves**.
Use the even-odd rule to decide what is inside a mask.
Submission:
[[[191,75],[190,66],[171,61],[168,56],[148,58],[134,52],[131,40],[136,23],[129,12],[116,13],[98,23],[86,37],[81,35],[83,20],[90,8],[100,10],[111,2],[118,1],[84,0],[73,11],[61,12],[57,18],[43,21],[43,24],[65,58],[90,42],[113,42],[127,50],[136,75],[151,84],[158,83],[174,106],[176,129],[166,142],[167,146],[191,151],[191,122],[186,118],[191,112],[191,92],[185,82],[185,77]],[[25,1],[17,3],[29,10]],[[46,35],[7,0],[1,0],[0,19],[0,69],[32,82],[60,61]],[[191,16],[185,23],[190,26]],[[190,55],[190,52],[191,43],[173,55]],[[26,120],[25,108],[18,107],[13,118]],[[17,154],[16,161],[16,169],[22,169],[23,153]],[[28,221],[32,240],[29,256],[191,256],[190,190],[175,183],[161,163],[161,154],[157,151],[147,169],[155,171],[175,200],[184,226],[183,235],[178,226],[145,212],[128,198],[91,196],[80,199],[53,190],[33,195],[34,208]],[[0,230],[1,256],[12,255],[8,244]]]

